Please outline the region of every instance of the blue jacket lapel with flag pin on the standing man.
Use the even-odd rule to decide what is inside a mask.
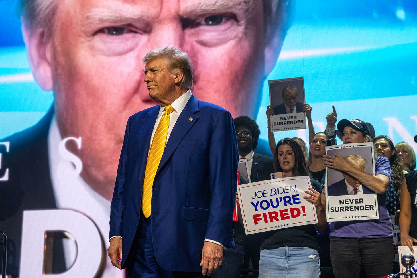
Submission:
[[[172,153],[178,147],[178,144],[181,142],[188,130],[190,130],[190,128],[198,120],[198,116],[194,114],[197,111],[198,99],[191,95],[191,98],[188,100],[188,103],[185,105],[184,109],[179,115],[178,120],[176,121],[171,134],[169,135],[161,161],[159,162],[158,170],[156,171],[156,175],[158,175],[159,170],[166,163],[168,158],[171,157]]]

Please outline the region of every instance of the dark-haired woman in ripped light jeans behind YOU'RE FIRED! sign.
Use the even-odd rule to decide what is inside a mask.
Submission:
[[[301,147],[295,140],[279,140],[274,154],[275,172],[284,177],[310,176]],[[304,199],[314,203],[319,223],[317,228],[327,227],[326,214],[320,200],[322,186],[310,179],[311,188]],[[259,278],[271,277],[320,277],[319,243],[314,225],[303,225],[266,232],[261,244]]]

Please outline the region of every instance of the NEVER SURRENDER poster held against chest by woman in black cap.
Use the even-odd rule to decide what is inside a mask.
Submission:
[[[326,147],[326,154],[375,175],[372,143],[329,146]],[[326,211],[327,221],[378,219],[377,194],[351,175],[326,168]]]

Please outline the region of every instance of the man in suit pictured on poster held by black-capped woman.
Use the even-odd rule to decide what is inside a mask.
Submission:
[[[347,163],[353,167],[364,171],[366,160],[359,155],[347,155],[345,156]],[[351,175],[343,173],[343,179],[335,183],[332,183],[327,188],[327,194],[329,196],[341,196],[341,195],[357,195],[357,194],[370,194],[375,193],[366,186],[359,183],[358,180],[353,178]]]

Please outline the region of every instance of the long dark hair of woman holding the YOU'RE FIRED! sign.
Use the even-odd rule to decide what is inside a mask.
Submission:
[[[300,145],[291,138],[284,138],[278,141],[278,143],[276,144],[276,148],[275,148],[275,153],[274,153],[274,171],[275,172],[282,172],[282,168],[279,165],[279,161],[278,161],[278,148],[280,145],[289,145],[292,149],[292,151],[294,152],[294,159],[295,159],[295,163],[294,163],[294,168],[292,169],[292,175],[294,177],[310,177],[311,175],[309,174],[309,171],[307,170],[307,166],[306,166],[306,159],[304,157],[304,153],[301,150]]]

